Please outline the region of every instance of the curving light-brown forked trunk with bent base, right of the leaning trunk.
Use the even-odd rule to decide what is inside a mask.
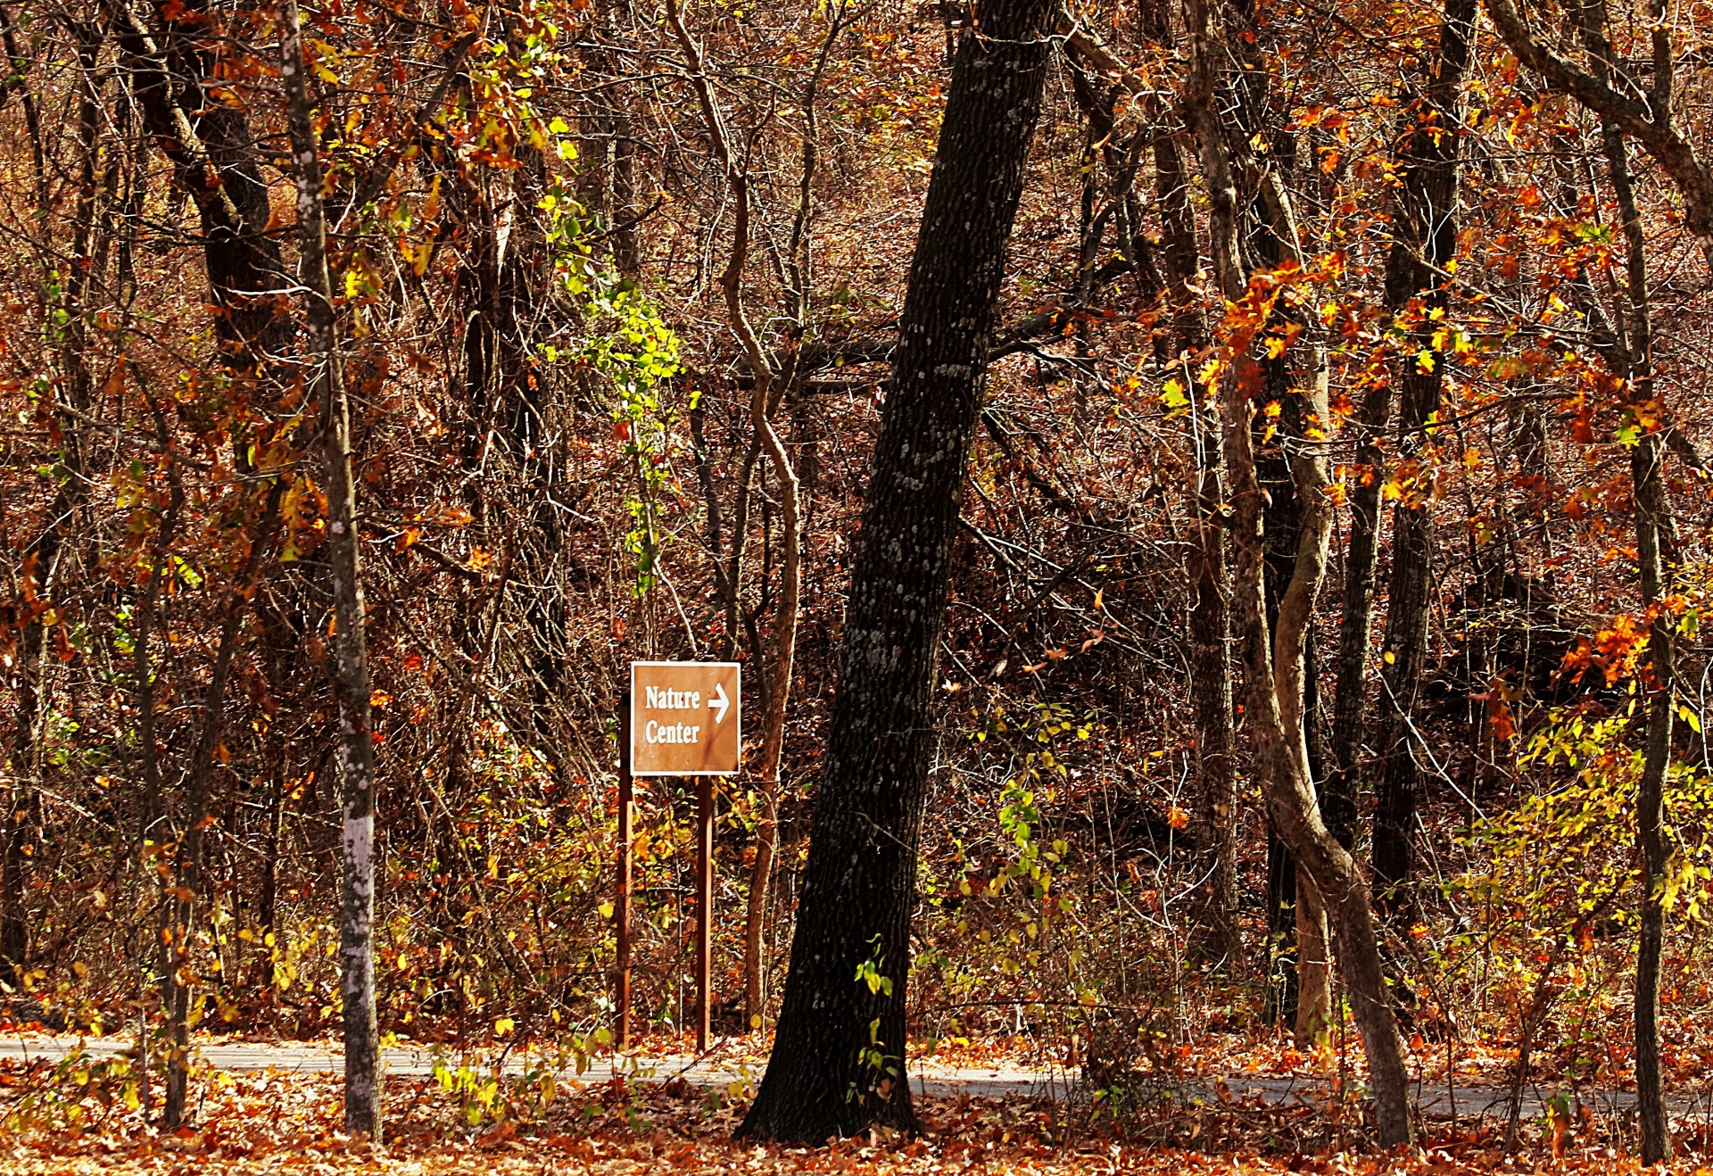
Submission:
[[[1249,309],[1252,317],[1238,259],[1237,187],[1232,182],[1230,153],[1215,105],[1215,69],[1220,50],[1213,41],[1208,0],[1191,0],[1189,17],[1191,77],[1184,108],[1185,120],[1196,132],[1208,185],[1215,276],[1233,309]],[[1326,574],[1331,537],[1326,463],[1319,449],[1307,449],[1292,463],[1304,511],[1302,533],[1290,585],[1280,598],[1278,631],[1271,633],[1262,573],[1262,492],[1250,439],[1254,413],[1250,394],[1261,386],[1261,372],[1250,355],[1254,326],[1250,321],[1233,317],[1232,334],[1221,357],[1225,367],[1220,372],[1225,459],[1232,480],[1232,535],[1237,550],[1232,597],[1249,670],[1247,723],[1256,747],[1257,775],[1280,838],[1319,890],[1338,936],[1340,970],[1369,1056],[1379,1140],[1384,1145],[1406,1143],[1412,1135],[1408,1075],[1398,1020],[1381,969],[1369,888],[1355,861],[1321,819],[1309,770],[1309,749],[1302,735],[1304,639],[1314,597]],[[1324,367],[1305,399],[1310,418],[1329,420]]]

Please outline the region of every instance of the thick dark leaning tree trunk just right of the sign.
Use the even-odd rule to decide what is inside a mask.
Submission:
[[[1047,74],[1047,0],[990,0],[952,65],[868,478],[778,1035],[747,1138],[915,1128],[904,982],[952,540]],[[872,962],[874,982],[858,977]],[[884,982],[882,979],[884,977]]]

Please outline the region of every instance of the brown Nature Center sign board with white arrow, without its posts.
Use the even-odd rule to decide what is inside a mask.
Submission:
[[[632,662],[632,775],[735,775],[742,729],[738,670],[737,662]]]

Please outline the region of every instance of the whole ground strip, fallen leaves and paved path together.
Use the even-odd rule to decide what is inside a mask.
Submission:
[[[399,1049],[387,1080],[384,1147],[339,1131],[339,1054],[331,1044],[204,1042],[192,1083],[192,1125],[146,1125],[115,1082],[122,1039],[26,1035],[0,1044],[0,1171],[185,1176],[190,1173],[843,1173],[850,1176],[1060,1176],[1069,1173],[1636,1173],[1624,1107],[1588,1099],[1547,1118],[1533,1092],[1519,1154],[1506,1155],[1494,1087],[1459,1089],[1459,1116],[1424,1083],[1420,1145],[1374,1152],[1360,1107],[1329,1085],[1252,1077],[1153,1083],[1119,1123],[1065,1089],[1064,1071],[915,1063],[923,1121],[916,1137],[870,1137],[815,1149],[731,1142],[761,1073],[752,1047],[726,1058],[644,1053],[630,1073],[598,1061],[581,1077],[497,1056],[486,1068],[445,1051]],[[26,1056],[27,1054],[27,1056]],[[737,1065],[733,1065],[737,1058]],[[749,1061],[743,1061],[749,1058]],[[540,1063],[540,1056],[534,1056]],[[695,1063],[695,1065],[685,1065]],[[428,1073],[440,1065],[440,1073]],[[1283,1090],[1278,1083],[1297,1083]],[[963,1085],[959,1085],[963,1083]],[[992,1083],[1016,1083],[994,1090]],[[1055,1087],[1057,1083],[1057,1087]],[[1175,1097],[1163,1097],[1167,1089]],[[990,1090],[990,1092],[983,1092]],[[1059,1097],[1050,1097],[1057,1092]],[[1069,1095],[1069,1097],[1067,1097]],[[1497,1095],[1497,1097],[1495,1097]],[[156,1102],[159,1095],[156,1095]],[[1485,1116],[1471,1114],[1492,1101]],[[1704,1173],[1706,1125],[1679,1102],[1680,1162]]]

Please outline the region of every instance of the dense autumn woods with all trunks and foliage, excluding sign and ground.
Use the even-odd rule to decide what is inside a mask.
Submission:
[[[738,660],[740,1135],[916,1130],[913,1059],[987,1046],[1119,1121],[1288,1054],[1382,1145],[1470,1071],[1506,1147],[1537,1080],[1684,1145],[1704,7],[0,34],[0,999],[132,1034],[140,1114],[204,1030],[343,1037],[377,1138],[387,1035],[608,1051],[627,665]],[[694,813],[637,782],[653,1037]]]

